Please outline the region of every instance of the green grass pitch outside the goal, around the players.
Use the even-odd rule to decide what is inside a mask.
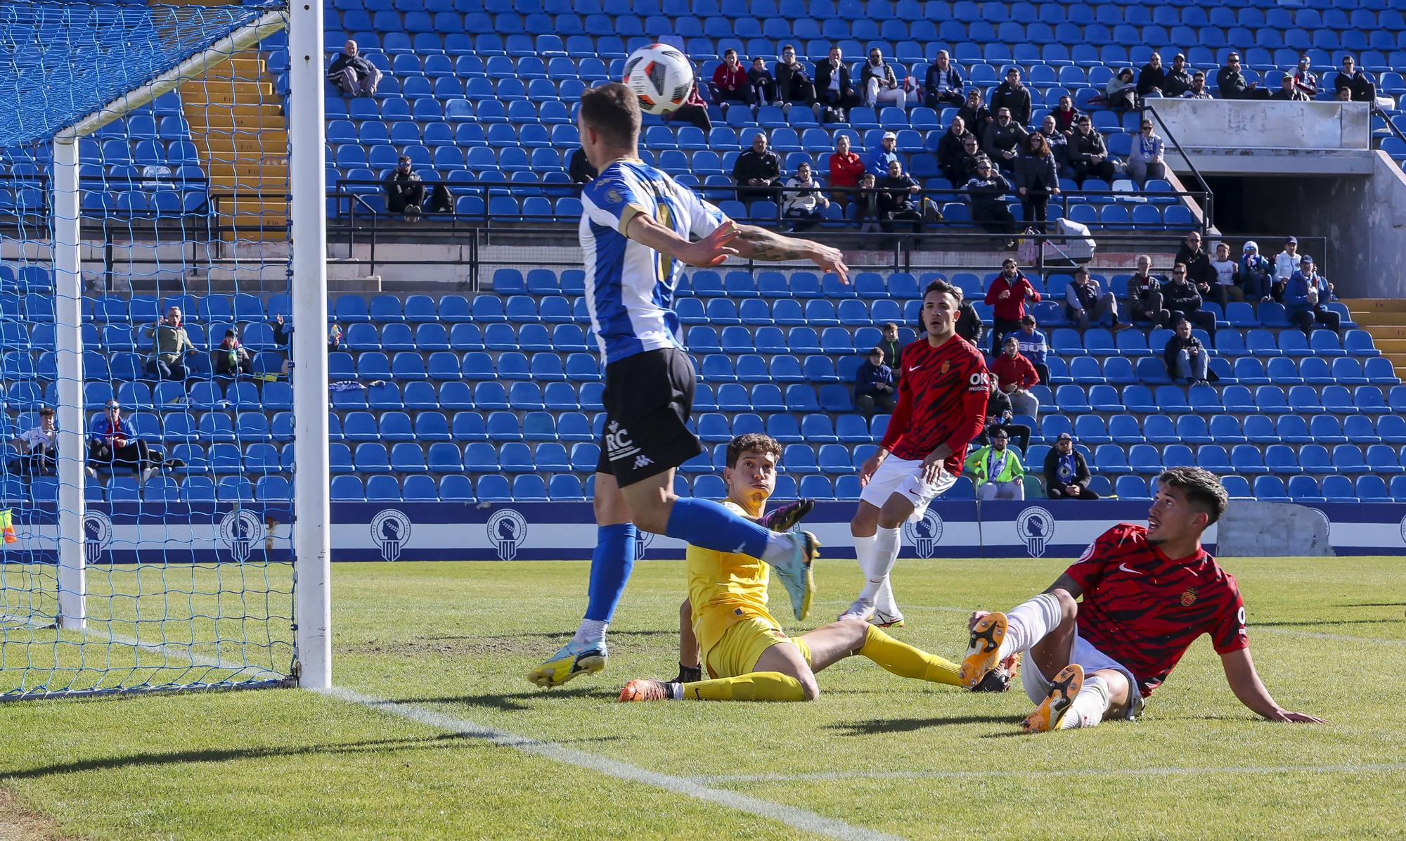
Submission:
[[[1066,564],[901,561],[908,627],[894,636],[959,658],[967,610],[1010,608]],[[1270,691],[1330,724],[1256,719],[1206,638],[1142,721],[1083,733],[1019,734],[1031,709],[1019,688],[973,695],[863,658],[821,674],[811,705],[617,705],[626,679],[675,671],[682,564],[672,561],[636,567],[610,668],[557,691],[523,674],[575,627],[588,564],[337,564],[335,676],[912,838],[1035,837],[1054,826],[1125,838],[1400,837],[1402,560],[1223,564],[1244,592]],[[853,561],[821,561],[817,577],[815,624],[860,584]],[[808,837],[299,691],[0,705],[0,755],[15,809],[77,837]]]

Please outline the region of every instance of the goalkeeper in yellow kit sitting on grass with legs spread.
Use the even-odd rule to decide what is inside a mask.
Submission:
[[[723,505],[759,518],[776,488],[780,454],[780,444],[765,435],[733,439],[723,470],[728,491]],[[794,526],[794,520],[808,509],[804,503],[778,513],[790,515],[789,526]],[[620,692],[620,700],[814,700],[820,695],[815,672],[855,654],[904,678],[962,685],[956,664],[900,643],[858,619],[832,622],[800,637],[787,637],[766,609],[769,567],[756,558],[690,544],[688,575],[685,616],[692,616],[702,664],[711,679],[630,681]],[[792,591],[797,619],[804,619],[814,586],[806,581],[803,588],[787,589]],[[686,637],[685,653],[692,648]],[[987,683],[983,688],[991,686]]]

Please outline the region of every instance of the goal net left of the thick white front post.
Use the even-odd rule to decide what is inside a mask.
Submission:
[[[287,23],[0,8],[3,699],[299,671]]]

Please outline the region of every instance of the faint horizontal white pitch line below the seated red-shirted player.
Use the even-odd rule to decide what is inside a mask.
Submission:
[[[844,779],[990,779],[1010,776],[1185,776],[1199,773],[1385,773],[1406,771],[1406,762],[1374,762],[1362,765],[1246,765],[1211,768],[1063,768],[1054,771],[820,771],[814,773],[724,773],[692,776],[693,782],[824,782]]]

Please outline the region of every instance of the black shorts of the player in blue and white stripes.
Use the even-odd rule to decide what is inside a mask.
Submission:
[[[606,366],[606,428],[596,473],[621,488],[675,468],[703,451],[689,432],[696,374],[676,347],[645,350]]]

